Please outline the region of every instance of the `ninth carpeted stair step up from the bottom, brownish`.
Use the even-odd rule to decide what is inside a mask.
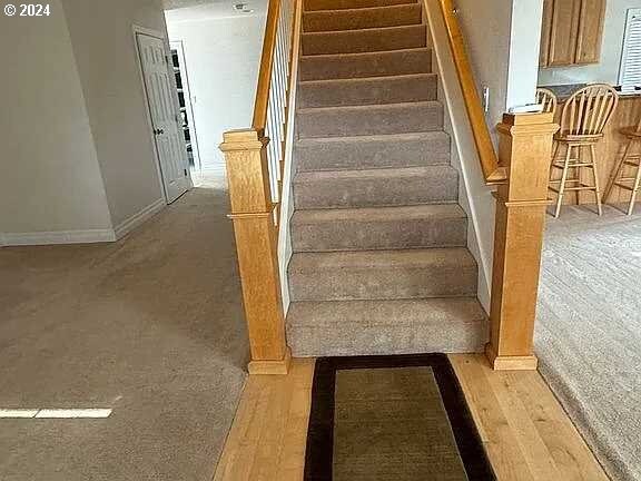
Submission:
[[[331,33],[304,33],[303,55],[358,53],[410,49],[426,46],[425,26],[352,30]]]

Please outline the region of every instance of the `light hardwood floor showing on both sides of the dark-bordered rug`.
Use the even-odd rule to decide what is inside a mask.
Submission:
[[[538,372],[493,372],[450,356],[499,480],[608,480]],[[215,481],[302,481],[313,360],[287,376],[250,376]]]

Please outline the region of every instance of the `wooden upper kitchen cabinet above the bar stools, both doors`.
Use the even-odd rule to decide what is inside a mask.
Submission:
[[[596,63],[607,0],[544,0],[541,67]]]

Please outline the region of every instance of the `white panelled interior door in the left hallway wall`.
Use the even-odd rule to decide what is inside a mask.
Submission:
[[[172,203],[189,189],[189,161],[183,129],[178,122],[174,85],[165,53],[165,42],[156,37],[137,33],[145,90],[156,140],[158,161],[167,202]]]

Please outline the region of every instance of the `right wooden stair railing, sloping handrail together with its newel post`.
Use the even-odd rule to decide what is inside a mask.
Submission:
[[[490,130],[453,0],[438,0],[479,158],[487,185],[497,186],[490,342],[494,370],[534,370],[534,322],[545,225],[552,114],[505,114],[497,126],[499,155]]]

